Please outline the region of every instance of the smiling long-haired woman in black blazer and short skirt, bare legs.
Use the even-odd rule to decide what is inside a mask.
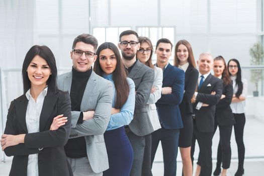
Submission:
[[[184,128],[180,129],[179,147],[183,161],[183,174],[189,176],[193,174],[191,160],[191,145],[193,137],[193,98],[199,72],[196,69],[194,54],[191,44],[186,40],[180,40],[175,46],[174,66],[185,71],[185,92],[180,111]]]

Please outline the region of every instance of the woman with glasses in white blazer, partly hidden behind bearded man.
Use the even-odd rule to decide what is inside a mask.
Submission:
[[[163,72],[161,68],[158,68],[152,64],[153,45],[150,39],[147,37],[139,37],[138,41],[140,43],[140,48],[137,51],[137,59],[141,63],[154,69],[154,74],[155,74],[150,97],[146,104],[148,116],[149,116],[151,125],[155,131],[161,128],[155,103],[161,97]],[[144,150],[142,173],[141,173],[142,176],[152,175],[151,173],[151,143],[152,143],[151,134],[149,134],[145,136],[145,150]]]

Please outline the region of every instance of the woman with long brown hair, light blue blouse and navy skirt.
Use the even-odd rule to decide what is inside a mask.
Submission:
[[[103,175],[128,176],[133,162],[133,149],[124,125],[132,119],[135,108],[135,84],[127,73],[117,46],[105,42],[99,46],[94,71],[113,83],[112,115],[104,134],[109,169]],[[98,156],[100,157],[100,156]]]

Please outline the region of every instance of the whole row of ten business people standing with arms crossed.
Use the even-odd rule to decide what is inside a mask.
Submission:
[[[10,175],[152,175],[159,141],[164,175],[176,174],[178,146],[183,174],[192,175],[191,146],[195,139],[201,153],[200,174],[211,175],[215,105],[222,96],[221,80],[210,74],[212,56],[200,55],[198,72],[190,43],[181,40],[175,46],[172,66],[168,63],[172,44],[160,39],[155,48],[157,63],[153,65],[154,50],[148,38],[129,30],[122,32],[119,40],[122,56],[113,43],[106,42],[97,49],[95,37],[79,35],[70,52],[72,71],[59,75],[58,80],[52,52],[45,46],[29,50],[22,69],[24,95],[11,103],[1,139],[6,154],[14,155]],[[47,93],[53,96],[48,99]],[[55,99],[54,94],[60,97]],[[241,101],[243,96],[239,96],[234,101]],[[38,128],[38,124],[45,128]],[[241,138],[241,133],[236,136]],[[222,148],[224,155],[221,139],[219,153]],[[47,158],[56,151],[54,157]],[[27,162],[19,165],[20,161]],[[55,161],[64,165],[54,165]],[[218,161],[219,170],[220,157]]]

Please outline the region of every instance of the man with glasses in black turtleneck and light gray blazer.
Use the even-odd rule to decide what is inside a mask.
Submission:
[[[104,132],[112,109],[112,83],[97,75],[97,39],[81,34],[73,41],[71,72],[58,77],[58,88],[70,93],[71,133],[64,146],[73,174],[103,175],[109,168]]]

